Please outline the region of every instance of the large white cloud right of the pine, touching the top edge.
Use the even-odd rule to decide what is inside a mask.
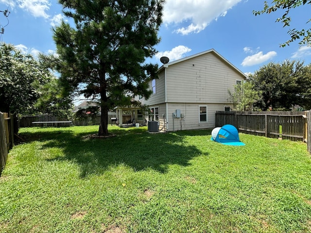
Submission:
[[[225,17],[227,10],[231,9],[241,0],[167,0],[164,5],[163,22],[165,24],[180,24],[189,22],[175,32],[181,34],[199,33],[204,30],[212,20]]]

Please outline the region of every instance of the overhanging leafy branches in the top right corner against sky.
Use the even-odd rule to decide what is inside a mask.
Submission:
[[[283,27],[285,27],[290,26],[292,21],[292,18],[289,16],[290,11],[298,6],[302,6],[305,4],[311,4],[311,0],[273,0],[271,5],[269,5],[268,2],[265,1],[263,10],[253,11],[253,14],[255,16],[261,15],[263,13],[270,14],[278,9],[285,9],[286,11],[284,15],[276,19],[276,22],[282,22]],[[310,21],[311,19],[309,19],[306,23],[309,23]],[[311,45],[311,28],[301,30],[291,29],[288,31],[288,34],[291,36],[291,38],[287,40],[285,43],[281,44],[280,45],[281,47],[289,45],[296,39],[300,39],[300,37],[302,37],[302,40],[299,42],[299,44]]]

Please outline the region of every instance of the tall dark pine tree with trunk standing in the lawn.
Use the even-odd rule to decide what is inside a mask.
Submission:
[[[108,134],[108,111],[131,105],[135,95],[148,98],[157,65],[155,55],[164,0],[59,0],[64,21],[54,29],[60,63],[56,66],[67,92],[100,100],[99,135]]]

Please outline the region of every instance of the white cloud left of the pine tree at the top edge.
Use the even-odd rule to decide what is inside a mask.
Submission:
[[[17,2],[21,9],[28,11],[34,17],[50,17],[46,13],[51,6],[51,2],[49,0],[17,0]]]

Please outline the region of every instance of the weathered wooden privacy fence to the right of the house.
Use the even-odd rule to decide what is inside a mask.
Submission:
[[[218,111],[215,126],[231,124],[242,133],[308,142],[308,123],[307,112]]]

